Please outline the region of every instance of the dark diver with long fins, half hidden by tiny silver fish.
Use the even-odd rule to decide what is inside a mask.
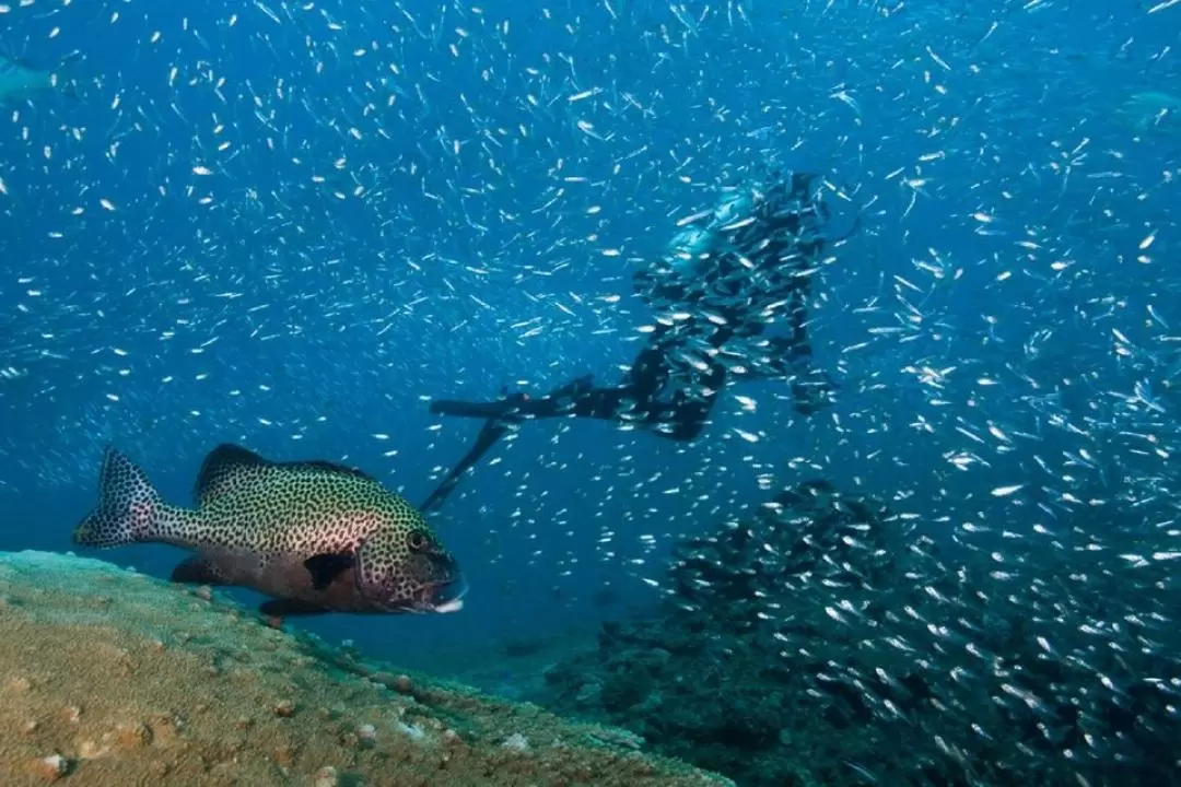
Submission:
[[[726,189],[712,211],[689,222],[663,256],[633,275],[657,321],[619,383],[595,386],[586,375],[536,398],[502,391],[492,401],[431,402],[431,413],[484,425],[423,510],[438,507],[468,470],[527,420],[592,418],[689,441],[705,428],[730,378],[788,381],[802,414],[831,404],[836,383],[813,365],[808,300],[826,245],[846,240],[860,219],[842,237],[827,238],[831,216],[817,179],[772,170]],[[788,335],[764,337],[781,317]]]

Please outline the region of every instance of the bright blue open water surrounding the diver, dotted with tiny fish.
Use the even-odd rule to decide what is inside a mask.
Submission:
[[[466,610],[309,628],[410,661],[562,631],[618,612],[594,604],[603,586],[651,599],[638,579],[659,577],[677,533],[817,474],[896,496],[940,533],[1044,520],[1042,485],[1115,494],[1162,472],[1120,438],[1138,417],[1107,392],[1167,393],[1175,366],[1146,309],[1181,319],[1181,143],[1136,135],[1117,110],[1181,84],[1176,53],[1160,57],[1181,8],[269,7],[279,22],[257,4],[144,0],[0,15],[6,52],[44,67],[84,55],[63,71],[80,100],[40,94],[0,116],[0,368],[19,374],[0,379],[4,549],[70,547],[109,441],[177,501],[223,441],[345,460],[423,499],[476,428],[441,425],[425,399],[616,374],[647,319],[629,258],[658,254],[676,217],[766,155],[866,206],[817,288],[837,407],[805,421],[782,387],[744,385],[757,412],[724,398],[691,446],[530,425],[435,517],[469,572]],[[354,184],[364,198],[334,194]],[[870,333],[894,315],[907,341]],[[1142,352],[1114,354],[1113,328]],[[924,367],[955,370],[935,389]],[[998,451],[988,424],[1027,437]],[[1035,459],[1061,468],[1079,447],[1098,467],[1070,481]],[[957,472],[945,455],[959,451],[991,466]],[[1009,484],[1035,492],[988,496]],[[167,575],[178,555],[106,557]]]

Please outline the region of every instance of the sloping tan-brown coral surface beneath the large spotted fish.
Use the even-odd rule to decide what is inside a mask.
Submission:
[[[0,553],[0,625],[5,787],[730,783],[98,560]]]

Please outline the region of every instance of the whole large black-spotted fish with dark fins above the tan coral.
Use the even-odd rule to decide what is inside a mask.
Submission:
[[[423,516],[365,473],[275,463],[234,445],[201,467],[196,507],[168,505],[143,471],[107,448],[98,506],[77,544],[172,544],[195,555],[175,582],[253,588],[268,615],[450,612],[466,583]]]

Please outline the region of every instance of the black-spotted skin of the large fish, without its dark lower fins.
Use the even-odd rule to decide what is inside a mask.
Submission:
[[[456,578],[451,556],[400,496],[331,463],[272,463],[236,446],[210,453],[187,510],[164,504],[144,473],[111,450],[96,511],[76,532],[89,546],[163,542],[253,556],[256,575],[317,555],[357,555],[359,586],[381,604],[412,606]],[[305,578],[311,585],[311,575]]]

